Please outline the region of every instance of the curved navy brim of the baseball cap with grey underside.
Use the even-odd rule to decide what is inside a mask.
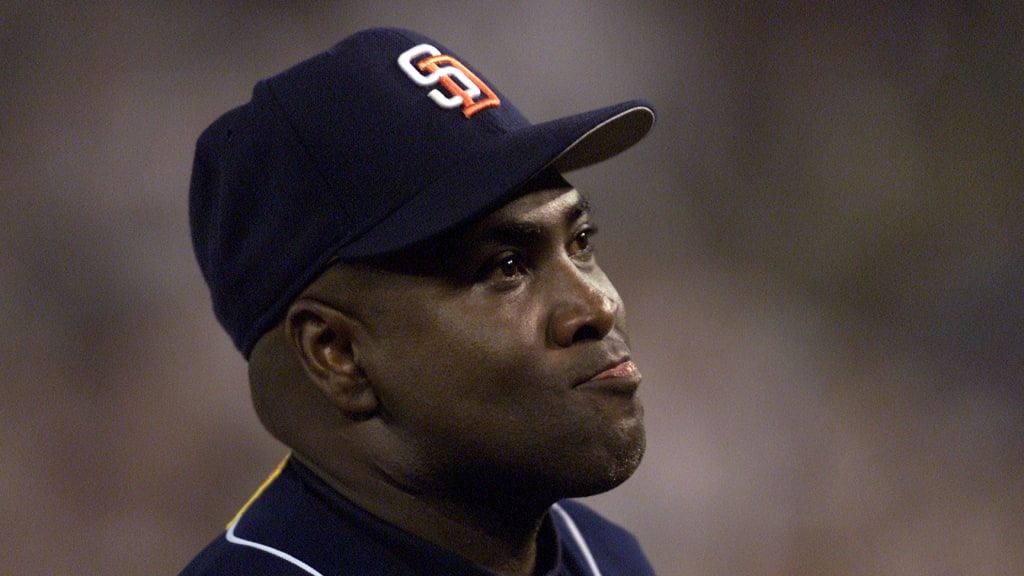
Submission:
[[[439,168],[437,179],[335,254],[354,259],[427,240],[512,200],[545,168],[564,173],[607,160],[653,125],[653,107],[630,100],[511,131]]]

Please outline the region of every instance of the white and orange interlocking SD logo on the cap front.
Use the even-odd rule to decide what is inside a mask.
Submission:
[[[466,118],[483,109],[502,105],[498,95],[461,61],[440,53],[430,44],[413,46],[402,52],[398,56],[398,66],[420,86],[438,85],[439,88],[427,94],[430,99],[441,108],[461,106]]]

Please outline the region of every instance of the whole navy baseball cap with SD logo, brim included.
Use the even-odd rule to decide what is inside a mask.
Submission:
[[[333,258],[482,216],[545,168],[600,162],[653,123],[633,100],[530,124],[429,38],[350,36],[256,84],[199,138],[189,221],[217,319],[249,358]]]

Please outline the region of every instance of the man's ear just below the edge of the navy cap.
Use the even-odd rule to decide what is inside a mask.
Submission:
[[[377,396],[355,358],[356,324],[324,302],[300,297],[292,303],[285,332],[309,379],[346,416],[372,417]]]

